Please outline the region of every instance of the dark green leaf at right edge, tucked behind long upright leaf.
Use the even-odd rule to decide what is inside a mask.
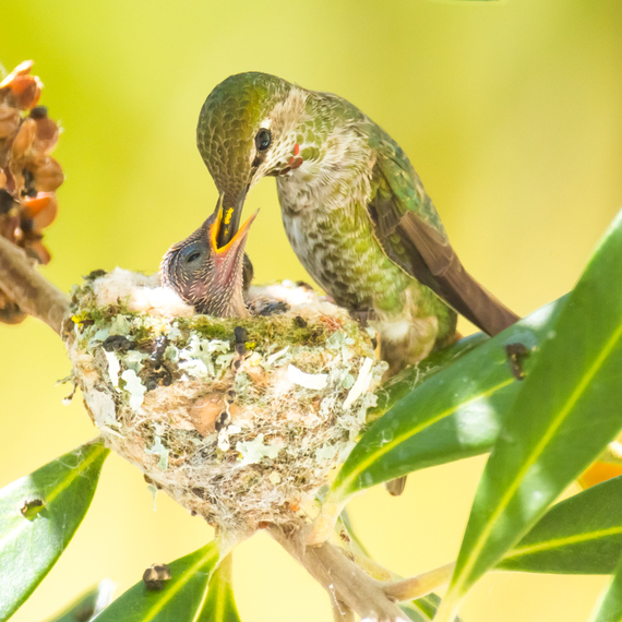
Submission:
[[[622,555],[622,476],[553,505],[498,569],[611,574]]]

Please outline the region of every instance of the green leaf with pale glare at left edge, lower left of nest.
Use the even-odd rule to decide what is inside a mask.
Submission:
[[[31,596],[69,545],[108,450],[82,445],[0,490],[0,622]]]

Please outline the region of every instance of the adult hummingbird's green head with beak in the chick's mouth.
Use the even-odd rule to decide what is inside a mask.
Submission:
[[[280,77],[250,72],[227,77],[205,100],[196,143],[223,194],[219,246],[236,235],[254,183],[265,176],[287,175],[302,164],[301,131],[312,127],[307,96],[307,91]]]

